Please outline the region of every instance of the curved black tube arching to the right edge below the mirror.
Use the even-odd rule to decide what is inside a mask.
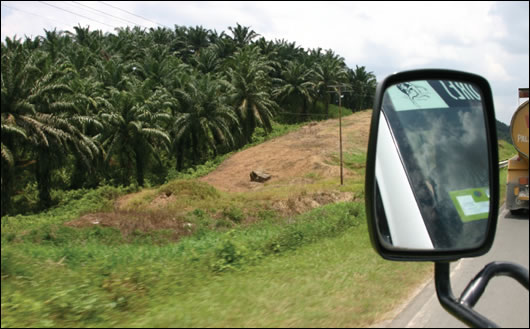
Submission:
[[[521,265],[509,262],[492,262],[486,265],[475,278],[467,285],[458,300],[459,303],[469,307],[475,306],[484,293],[489,281],[495,277],[505,275],[515,279],[528,290],[528,270]]]

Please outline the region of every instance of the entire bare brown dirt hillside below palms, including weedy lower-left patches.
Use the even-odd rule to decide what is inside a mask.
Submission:
[[[342,120],[345,159],[352,154],[361,155],[356,161],[358,167],[353,167],[360,170],[356,169],[354,172],[344,168],[345,184],[352,181],[357,184],[363,182],[362,159],[368,144],[371,114],[371,111],[358,112]],[[238,152],[199,180],[226,192],[256,191],[259,194],[261,191],[271,191],[269,195],[254,194],[244,199],[246,201],[243,202],[248,207],[241,207],[245,208],[241,212],[243,223],[255,221],[256,215],[253,212],[259,209],[272,209],[281,217],[289,218],[329,203],[356,200],[353,191],[339,188],[338,159],[339,120],[330,119],[309,123],[295,132]],[[272,177],[265,183],[251,182],[250,172],[253,170],[265,172]],[[331,186],[322,183],[330,181],[330,178]],[[317,187],[309,188],[315,182]],[[65,225],[114,227],[124,236],[138,231],[164,229],[171,232],[171,239],[178,240],[192,234],[199,225],[189,222],[190,218],[186,214],[205,206],[201,203],[201,198],[198,201],[191,198],[186,193],[186,187],[190,191],[207,188],[197,186],[194,181],[177,181],[172,184],[175,186],[170,195],[157,189],[143,189],[120,197],[112,212],[85,214]],[[250,194],[253,193],[246,196]],[[212,218],[223,218],[226,215],[226,209],[230,208],[226,203],[231,203],[230,198],[228,196],[224,201],[215,199],[218,203],[225,202],[218,204],[217,208],[208,204],[211,200],[206,202]],[[254,208],[257,210],[254,211]]]

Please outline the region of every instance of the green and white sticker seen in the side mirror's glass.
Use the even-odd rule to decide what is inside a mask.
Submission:
[[[462,222],[487,219],[490,209],[489,189],[474,188],[449,192]]]

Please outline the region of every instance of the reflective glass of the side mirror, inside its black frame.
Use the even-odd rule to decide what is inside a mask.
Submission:
[[[385,247],[462,250],[484,242],[490,186],[482,99],[465,81],[408,81],[384,91],[375,175]]]

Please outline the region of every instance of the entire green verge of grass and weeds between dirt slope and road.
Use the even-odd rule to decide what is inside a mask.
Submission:
[[[365,325],[430,269],[381,260],[358,203],[158,244],[25,219],[2,219],[3,327]]]

